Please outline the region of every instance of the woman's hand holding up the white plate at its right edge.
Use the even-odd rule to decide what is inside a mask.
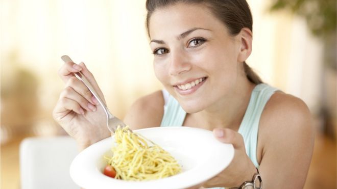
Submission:
[[[219,141],[233,144],[234,158],[225,170],[204,182],[203,187],[239,187],[243,182],[252,180],[256,168],[246,154],[241,134],[227,128],[215,128],[213,133]]]

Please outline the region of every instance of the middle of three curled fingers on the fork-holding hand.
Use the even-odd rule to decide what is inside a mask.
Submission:
[[[77,91],[69,86],[62,91],[60,97],[76,101],[82,107],[82,109],[85,109],[87,111],[95,112],[97,110],[97,107],[95,107],[95,105],[91,104],[81,94],[79,94]]]

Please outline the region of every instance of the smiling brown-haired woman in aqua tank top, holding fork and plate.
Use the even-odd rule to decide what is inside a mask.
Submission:
[[[199,127],[232,143],[231,164],[203,187],[245,188],[255,180],[256,187],[262,181],[263,188],[302,188],[314,144],[310,113],[245,63],[252,51],[247,2],[148,0],[146,6],[154,71],[165,90],[138,99],[125,123]],[[53,115],[85,148],[110,133],[97,100],[72,74],[79,70],[103,97],[86,66],[68,62],[59,71],[66,87]]]

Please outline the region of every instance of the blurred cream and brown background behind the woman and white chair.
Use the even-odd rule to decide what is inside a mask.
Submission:
[[[69,55],[86,63],[123,118],[162,89],[152,68],[145,0],[1,0],[1,188],[20,188],[19,144],[65,135],[52,110]],[[316,143],[305,188],[336,188],[336,1],[250,0],[253,52],[264,82],[303,99]]]

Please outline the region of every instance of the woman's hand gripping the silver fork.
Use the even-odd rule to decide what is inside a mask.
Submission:
[[[94,90],[104,100],[96,80],[84,63],[65,63],[59,70],[59,76],[65,83],[65,88],[53,110],[54,119],[73,137],[80,149],[109,137],[106,126],[106,115],[97,99],[88,88],[75,77],[74,73],[81,71],[89,80]]]

